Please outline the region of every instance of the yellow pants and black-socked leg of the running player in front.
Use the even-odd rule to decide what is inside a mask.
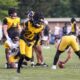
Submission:
[[[20,39],[20,59],[17,68],[18,73],[20,73],[20,68],[23,64],[23,60],[25,59],[25,57],[28,57],[30,59],[32,58],[32,46],[32,44],[28,46],[24,40]]]

